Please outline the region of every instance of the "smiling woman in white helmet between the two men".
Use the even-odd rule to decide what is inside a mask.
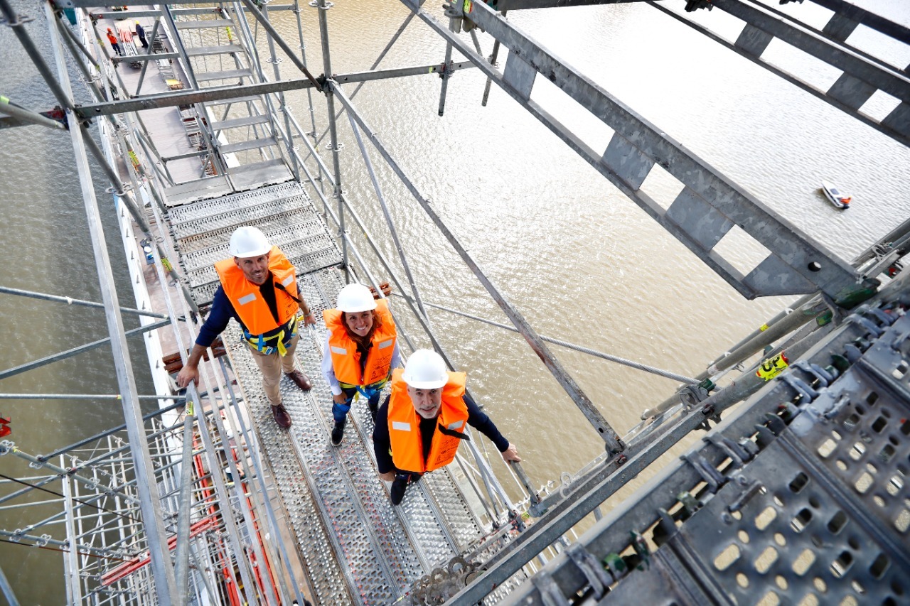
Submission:
[[[322,352],[322,376],[332,391],[332,444],[339,446],[354,396],[367,399],[376,420],[379,395],[392,369],[401,365],[398,332],[388,301],[377,301],[362,284],[349,284],[339,292],[338,308],[322,312],[329,334]]]

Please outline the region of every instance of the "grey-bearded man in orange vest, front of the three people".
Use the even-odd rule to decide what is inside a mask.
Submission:
[[[418,349],[404,372],[392,373],[391,393],[373,432],[379,478],[392,482],[392,505],[401,502],[409,483],[455,460],[461,440],[469,439],[465,422],[487,436],[503,460],[521,461],[518,449],[465,393],[465,379],[463,372],[446,370],[430,349]]]

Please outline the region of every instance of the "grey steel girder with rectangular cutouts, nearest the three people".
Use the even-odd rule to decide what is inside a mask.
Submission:
[[[835,257],[773,210],[764,207],[757,198],[666,136],[661,128],[635,114],[587,76],[565,65],[559,57],[538,45],[489,6],[472,3],[465,16],[510,49],[503,72],[490,66],[470,45],[451,34],[447,26],[421,10],[414,0],[401,2],[632,198],[743,297],[806,294],[822,290],[839,299],[858,288],[857,273],[848,263]],[[615,131],[606,149],[595,151],[531,101],[531,88],[537,74],[559,86]],[[654,165],[661,166],[684,185],[682,192],[666,210],[640,188]],[[770,251],[770,255],[747,276],[713,250],[735,226],[741,227]]]

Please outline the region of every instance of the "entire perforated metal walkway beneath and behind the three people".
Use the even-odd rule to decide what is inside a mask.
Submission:
[[[339,251],[297,184],[173,208],[168,218],[199,303],[210,301],[217,287],[211,264],[227,257],[227,238],[243,224],[262,228],[288,253],[317,318],[344,286]],[[261,375],[239,337],[232,322],[223,335],[227,354],[319,603],[397,601],[412,583],[481,539],[485,530],[447,470],[428,474],[401,506],[391,505],[377,476],[372,420],[363,402],[352,407],[341,446],[330,445],[331,397],[319,372],[325,338],[321,319],[316,328],[303,331],[296,354],[313,389],[304,393],[288,379],[281,382],[293,419],[289,431],[272,420]]]

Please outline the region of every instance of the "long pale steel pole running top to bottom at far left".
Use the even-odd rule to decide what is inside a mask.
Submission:
[[[0,0],[0,3],[5,4],[5,2],[6,0]],[[45,16],[49,23],[53,22],[55,19],[54,11],[49,4],[45,4]],[[123,319],[120,318],[118,312],[120,305],[116,295],[116,288],[114,288],[114,275],[111,270],[110,258],[107,256],[104,228],[101,225],[101,217],[98,212],[97,200],[95,198],[95,184],[92,183],[91,167],[88,166],[86,146],[82,139],[82,126],[80,126],[76,114],[72,111],[72,102],[70,101],[70,99],[72,99],[72,91],[69,86],[66,59],[63,56],[60,40],[57,37],[56,27],[51,26],[48,29],[51,45],[54,48],[57,73],[60,78],[60,84],[57,88],[66,95],[68,109],[66,112],[66,119],[69,123],[70,136],[73,139],[76,167],[79,171],[79,182],[82,187],[82,195],[86,205],[88,230],[92,238],[92,247],[95,251],[96,270],[101,286],[101,295],[105,303],[107,330],[110,333],[111,338],[117,384],[119,385],[120,393],[123,397],[122,402],[124,418],[126,419],[126,433],[133,448],[132,455],[136,470],[136,489],[138,490],[140,510],[142,510],[142,519],[146,528],[148,552],[151,560],[156,592],[158,601],[161,604],[169,605],[174,603],[175,597],[174,569],[170,564],[170,554],[167,553],[167,535],[164,529],[161,502],[156,490],[155,471],[152,465],[151,454],[148,450],[142,413],[139,408],[136,379],[133,377],[133,367],[129,358],[129,348],[126,345]],[[40,56],[37,58],[40,60]],[[34,60],[35,57],[33,57],[33,61]],[[44,61],[41,60],[41,63],[43,64]]]

